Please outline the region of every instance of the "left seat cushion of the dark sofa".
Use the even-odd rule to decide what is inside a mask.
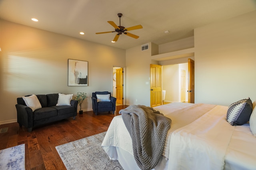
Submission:
[[[34,111],[34,120],[40,120],[47,117],[57,116],[58,111],[53,107],[42,107]]]

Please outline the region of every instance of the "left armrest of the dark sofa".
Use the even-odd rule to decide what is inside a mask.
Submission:
[[[33,127],[33,111],[22,104],[15,105],[17,110],[17,122],[27,128]]]

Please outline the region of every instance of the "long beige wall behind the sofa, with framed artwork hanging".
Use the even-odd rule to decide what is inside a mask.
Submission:
[[[113,66],[126,65],[123,49],[0,21],[0,124],[16,121],[16,98],[28,94],[86,92],[90,110],[92,92],[112,92]],[[68,86],[68,59],[88,61],[88,86]]]

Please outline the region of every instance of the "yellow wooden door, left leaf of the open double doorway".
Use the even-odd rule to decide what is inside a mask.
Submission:
[[[162,66],[150,64],[150,107],[162,105]]]

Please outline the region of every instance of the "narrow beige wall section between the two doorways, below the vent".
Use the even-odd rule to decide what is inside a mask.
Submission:
[[[141,46],[126,50],[126,104],[150,106],[151,48],[141,51]],[[148,84],[146,84],[148,82]]]

